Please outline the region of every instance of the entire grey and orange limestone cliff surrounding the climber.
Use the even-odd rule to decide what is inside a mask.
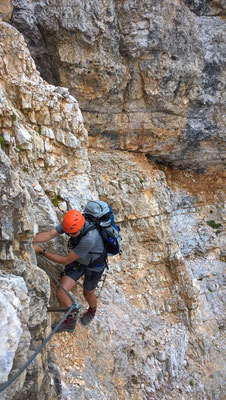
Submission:
[[[134,60],[132,53],[128,58],[129,62],[124,59],[119,63],[116,58],[113,62],[111,58],[118,51],[118,43],[121,46],[118,54],[120,60],[125,57],[126,52],[136,53],[136,46],[142,47],[145,43],[148,43],[148,52],[149,47],[152,48],[151,43],[153,46],[155,43],[154,31],[157,38],[160,34],[164,37],[164,31],[160,32],[160,20],[167,22],[164,29],[169,30],[170,23],[177,21],[178,24],[183,15],[188,18],[184,29],[191,26],[191,34],[197,28],[195,23],[199,23],[204,29],[205,21],[203,19],[197,22],[198,17],[191,14],[183,2],[174,2],[174,7],[170,1],[162,3],[161,10],[156,6],[155,10],[151,10],[155,12],[155,18],[152,14],[148,16],[145,9],[148,24],[150,21],[154,24],[156,20],[155,29],[153,27],[152,30],[149,25],[146,28],[141,24],[137,2],[122,3],[122,10],[121,2],[106,1],[103,8],[98,7],[95,2],[86,2],[84,8],[81,8],[75,1],[71,1],[63,11],[61,8],[58,10],[57,17],[55,9],[58,3],[54,4],[52,1],[30,1],[25,5],[22,1],[14,1],[13,21],[15,23],[20,15],[24,18],[20,27],[34,28],[32,24],[24,25],[28,11],[29,21],[32,23],[39,18],[39,12],[40,15],[45,12],[45,18],[39,20],[33,34],[40,37],[38,35],[42,32],[45,46],[48,44],[45,51],[48,49],[50,58],[55,54],[56,46],[59,46],[58,50],[62,48],[62,53],[57,50],[57,58],[52,59],[55,60],[54,70],[48,72],[46,69],[48,73],[55,71],[55,79],[60,84],[58,87],[47,84],[40,77],[22,35],[6,23],[0,24],[2,382],[10,373],[18,370],[50,329],[47,304],[54,303],[54,292],[50,291],[46,274],[37,267],[31,246],[33,234],[37,230],[55,226],[69,208],[82,210],[88,199],[99,196],[107,200],[115,211],[123,236],[123,255],[110,261],[97,317],[92,325],[85,330],[78,324],[74,335],[55,336],[51,345],[40,353],[28,370],[0,398],[222,400],[225,390],[225,196],[224,175],[220,169],[223,163],[218,155],[223,150],[223,120],[219,116],[223,99],[217,92],[217,97],[212,97],[213,102],[210,102],[208,108],[209,115],[211,118],[214,115],[217,126],[213,135],[209,135],[209,128],[198,128],[204,126],[207,120],[202,109],[204,114],[195,117],[195,121],[201,124],[196,125],[195,132],[203,135],[202,140],[199,136],[199,145],[197,146],[197,141],[193,141],[193,147],[189,147],[188,137],[183,140],[183,129],[175,132],[174,120],[182,118],[182,125],[187,124],[188,108],[181,106],[186,90],[187,96],[190,96],[187,107],[191,106],[192,101],[198,102],[196,74],[202,70],[204,48],[199,48],[201,54],[192,53],[193,61],[197,57],[195,68],[198,66],[192,72],[190,86],[187,81],[186,84],[179,85],[176,103],[172,102],[172,93],[175,91],[173,77],[177,81],[178,76],[173,72],[165,82],[166,86],[163,85],[167,90],[170,85],[173,86],[174,90],[172,89],[169,97],[165,98],[165,92],[161,92],[163,89],[160,92],[159,89],[156,93],[151,92],[156,88],[156,81],[161,81],[164,75],[164,70],[158,68],[158,60],[161,63],[165,60],[167,71],[175,66],[176,60],[172,59],[172,63],[169,63],[168,55],[164,59],[163,53],[160,56],[155,52],[155,57],[153,55],[149,63],[150,74],[147,73],[149,67],[147,70],[145,67],[139,71],[138,80],[138,75],[132,75],[132,65],[136,66],[137,71],[142,62]],[[197,5],[196,2],[193,6],[192,4],[189,2],[191,8]],[[117,10],[117,18],[121,13],[121,19],[113,18],[113,5]],[[144,10],[139,10],[141,14],[144,13]],[[77,19],[76,15],[79,16]],[[92,18],[89,18],[90,15]],[[132,17],[135,16],[137,20],[133,31],[132,25],[135,22]],[[59,31],[53,29],[52,21],[54,24],[57,21]],[[219,34],[221,37],[222,21],[213,21],[207,36],[210,37],[215,32],[214,35]],[[67,25],[69,22],[72,26],[65,27],[64,23]],[[76,23],[80,23],[78,29],[73,25]],[[121,36],[120,41],[120,37],[114,35],[119,26],[122,33],[122,25],[124,36]],[[104,33],[106,26],[109,29],[108,35],[112,33],[111,46],[110,39],[107,41],[110,36]],[[140,36],[137,36],[137,29]],[[55,39],[49,34],[52,30]],[[146,30],[149,32],[148,42]],[[98,35],[101,32],[100,41]],[[46,34],[48,35],[45,36]],[[172,32],[168,38],[172,40],[171,34]],[[187,32],[184,33],[184,38],[187,38],[186,35]],[[191,46],[191,37],[187,40]],[[198,40],[197,38],[197,42],[194,42],[194,48]],[[171,45],[173,42],[177,53],[180,41],[176,42],[174,38]],[[81,43],[86,43],[83,49]],[[216,36],[215,45],[208,43],[215,52]],[[40,44],[44,46],[43,42]],[[69,44],[72,47],[67,52]],[[95,50],[95,46],[100,50],[98,46],[102,49],[104,44],[109,49],[109,57],[106,51],[101,50],[98,55]],[[218,48],[220,47],[221,44]],[[62,63],[58,59],[59,54],[64,57]],[[208,53],[210,58],[211,54]],[[71,63],[71,56],[78,57],[80,61],[74,60]],[[145,64],[150,54],[147,56],[142,47],[138,56]],[[184,64],[186,58],[183,58],[183,52],[177,57],[177,62]],[[217,60],[220,64],[221,51]],[[81,62],[84,62],[83,67]],[[86,63],[90,64],[90,69]],[[113,77],[110,75],[111,63]],[[187,70],[188,75],[191,73],[191,64]],[[60,71],[61,74],[57,75]],[[64,80],[68,71],[71,75]],[[96,75],[94,87],[93,79],[97,71],[99,78]],[[128,71],[131,74],[130,85],[128,76],[126,78]],[[110,77],[108,79],[107,72]],[[222,79],[221,74],[222,71],[219,72],[219,80]],[[91,83],[90,90],[87,90],[89,75]],[[146,76],[148,84],[144,83]],[[118,80],[115,80],[116,77]],[[200,78],[199,81],[201,80]],[[202,82],[205,82],[205,74]],[[62,85],[70,87],[70,92]],[[139,94],[140,88],[144,90],[147,85],[149,89],[154,85],[152,89],[148,89],[149,95],[151,93],[149,98],[145,91]],[[111,90],[115,87],[119,93]],[[102,89],[105,89],[105,94]],[[70,93],[76,94],[79,104]],[[123,98],[125,93],[126,102],[120,100],[120,96]],[[152,96],[156,96],[156,100],[149,108],[147,104],[152,103]],[[147,100],[145,112],[144,98]],[[84,111],[85,127],[90,133],[89,151],[80,104]],[[129,106],[122,113],[121,107],[125,104]],[[174,112],[175,104],[180,108],[178,116]],[[197,107],[193,111],[200,113]],[[194,114],[191,113],[190,116],[192,120]],[[156,125],[153,118],[157,118]],[[147,135],[145,130],[139,134],[140,121],[144,125],[147,122]],[[118,128],[122,123],[124,125],[120,131]],[[165,136],[160,132],[161,124],[166,127]],[[156,126],[156,134],[153,125]],[[95,136],[92,134],[92,126],[97,129]],[[112,126],[115,127],[109,134]],[[186,148],[189,149],[190,157],[186,157],[188,153],[183,153],[184,146],[188,146]],[[210,158],[206,158],[208,152]],[[175,162],[177,156],[179,163]],[[197,170],[202,165],[209,170],[206,174],[199,174],[166,166],[160,168],[150,160],[153,157],[184,168],[190,166]],[[215,164],[217,168],[214,167]],[[46,246],[52,247],[58,253],[66,250],[62,238]],[[60,267],[52,268],[56,276],[59,270]],[[74,295],[85,306],[80,287],[74,291]],[[54,367],[53,349],[59,368]]]

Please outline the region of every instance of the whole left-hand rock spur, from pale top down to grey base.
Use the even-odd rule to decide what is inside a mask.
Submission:
[[[82,207],[95,191],[77,101],[68,89],[40,78],[15,28],[0,23],[0,37],[0,381],[4,383],[49,330],[50,284],[37,267],[32,236],[55,226],[57,214],[61,216],[67,207]],[[58,251],[60,246],[58,242]],[[40,353],[0,398],[56,398],[59,393],[51,386],[48,362],[49,350]]]

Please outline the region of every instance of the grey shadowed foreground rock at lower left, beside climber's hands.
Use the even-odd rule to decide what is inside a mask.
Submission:
[[[14,375],[24,365],[38,342],[45,338],[50,290],[48,278],[36,266],[31,250],[35,218],[30,196],[8,157],[2,150],[0,153],[0,381],[4,383],[10,373]],[[1,393],[0,398],[17,399],[28,395],[34,399],[35,392],[40,392],[40,396],[48,392],[47,358],[48,352],[37,357],[32,367]],[[33,384],[29,388],[31,380]]]

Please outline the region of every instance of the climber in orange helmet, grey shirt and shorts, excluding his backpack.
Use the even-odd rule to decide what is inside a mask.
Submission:
[[[89,304],[89,308],[81,318],[83,325],[87,325],[95,316],[97,297],[94,292],[106,267],[103,257],[100,264],[92,267],[92,262],[101,259],[100,255],[104,253],[104,244],[97,229],[90,230],[81,237],[82,232],[88,225],[89,222],[85,220],[79,211],[70,210],[64,216],[63,222],[57,225],[56,228],[48,232],[40,232],[33,238],[33,247],[36,254],[43,254],[47,259],[65,265],[65,274],[60,283],[68,292],[75,286],[77,280],[84,275],[83,295]],[[69,242],[71,243],[71,250],[66,256],[46,251],[34,244],[47,242],[63,233],[70,236]],[[72,301],[59,286],[57,287],[56,296],[60,306],[71,307]],[[58,332],[73,332],[76,319],[75,315],[69,315],[60,326]]]

